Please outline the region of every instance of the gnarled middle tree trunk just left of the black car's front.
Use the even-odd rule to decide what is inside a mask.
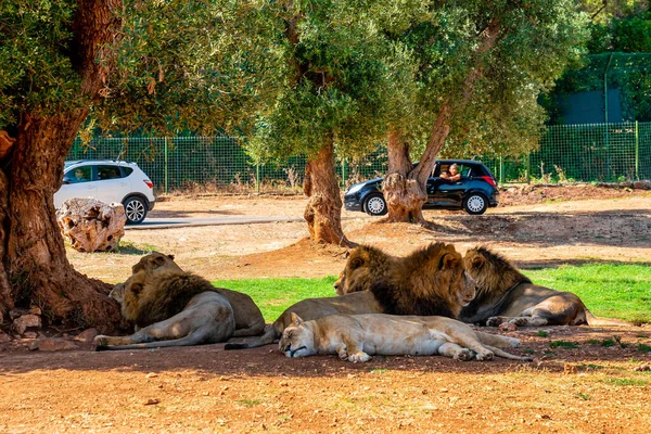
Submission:
[[[342,230],[342,199],[334,173],[332,138],[305,166],[303,191],[309,197],[304,217],[310,239],[316,243],[354,246]]]

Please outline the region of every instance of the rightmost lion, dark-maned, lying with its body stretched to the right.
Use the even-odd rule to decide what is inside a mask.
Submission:
[[[501,328],[628,326],[595,317],[575,294],[532,283],[508,259],[485,246],[469,250],[463,260],[477,282],[476,297],[461,310],[463,322]]]

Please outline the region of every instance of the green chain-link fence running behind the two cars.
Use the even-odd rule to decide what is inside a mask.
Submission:
[[[472,157],[458,155],[460,158]],[[231,193],[298,192],[305,157],[256,165],[231,137],[78,139],[67,159],[136,162],[157,193],[176,190]],[[519,157],[474,156],[500,183],[624,181],[651,179],[651,123],[548,127],[538,151]],[[340,159],[342,187],[386,174],[383,149],[358,161]]]

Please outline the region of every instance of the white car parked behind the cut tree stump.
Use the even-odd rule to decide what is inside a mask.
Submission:
[[[111,159],[65,162],[63,186],[54,193],[54,207],[72,197],[119,202],[125,206],[127,225],[144,220],[156,202],[153,182],[136,163]]]

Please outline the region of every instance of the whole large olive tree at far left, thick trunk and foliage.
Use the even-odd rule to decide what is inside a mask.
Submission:
[[[106,331],[110,285],[68,263],[53,194],[90,114],[105,129],[245,126],[284,63],[265,1],[0,1],[0,314]]]

